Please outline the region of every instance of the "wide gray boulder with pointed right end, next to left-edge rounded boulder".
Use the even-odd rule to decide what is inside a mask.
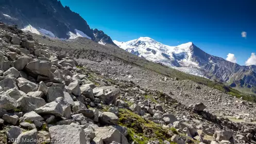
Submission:
[[[30,96],[23,96],[17,102],[23,112],[33,111],[46,104],[44,99]]]

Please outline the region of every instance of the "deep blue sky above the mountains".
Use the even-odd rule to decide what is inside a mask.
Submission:
[[[61,3],[112,40],[150,37],[170,46],[193,42],[224,59],[232,53],[241,65],[256,52],[254,0],[61,0]],[[250,59],[254,61],[256,64],[256,57]]]

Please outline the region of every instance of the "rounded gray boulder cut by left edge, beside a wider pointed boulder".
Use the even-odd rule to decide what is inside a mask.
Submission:
[[[11,98],[7,93],[0,93],[0,108],[5,110],[13,110],[18,107],[18,102]]]

